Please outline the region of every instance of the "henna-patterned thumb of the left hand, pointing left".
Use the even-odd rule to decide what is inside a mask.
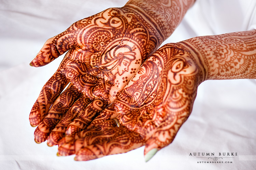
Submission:
[[[72,48],[75,45],[75,32],[76,28],[73,24],[66,31],[49,38],[37,56],[31,61],[30,66],[44,66]]]

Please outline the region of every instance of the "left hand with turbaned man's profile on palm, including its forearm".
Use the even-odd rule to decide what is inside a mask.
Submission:
[[[57,145],[65,134],[86,129],[115,101],[193,3],[130,0],[124,7],[109,8],[77,21],[48,39],[31,66],[44,66],[68,52],[29,115],[31,126],[38,126],[35,142],[47,139],[48,146]]]

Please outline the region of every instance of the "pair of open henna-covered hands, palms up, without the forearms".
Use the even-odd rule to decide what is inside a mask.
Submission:
[[[147,153],[173,140],[195,98],[197,82],[184,77],[195,76],[198,69],[182,47],[170,44],[151,55],[170,32],[163,34],[154,21],[134,13],[129,5],[110,8],[46,41],[31,66],[44,66],[68,52],[32,107],[29,120],[38,126],[37,143],[59,145],[59,155],[83,155],[77,151],[86,146],[116,143],[100,151],[109,155],[145,144]],[[190,89],[184,91],[186,83]],[[92,136],[97,139],[81,143]],[[74,149],[77,141],[81,145]]]

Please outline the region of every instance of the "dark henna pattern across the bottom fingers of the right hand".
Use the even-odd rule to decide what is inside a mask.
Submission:
[[[128,152],[143,146],[144,143],[139,134],[130,132],[124,126],[119,128],[115,126],[108,131],[93,131],[94,133],[91,133],[91,131],[84,138],[61,145],[58,148],[58,154],[67,156],[76,153],[76,160],[91,160],[116,154],[119,150],[122,150],[123,153]],[[120,139],[122,139],[122,142],[120,142]]]

